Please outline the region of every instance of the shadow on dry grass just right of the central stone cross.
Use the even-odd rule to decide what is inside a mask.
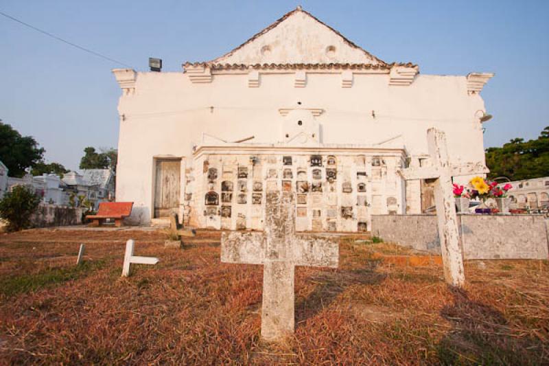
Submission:
[[[387,275],[375,272],[378,265],[379,261],[368,260],[366,268],[326,271],[309,278],[309,281],[316,282],[318,285],[307,298],[296,301],[296,324],[314,317],[318,312],[329,307],[349,286],[373,285],[382,282]]]

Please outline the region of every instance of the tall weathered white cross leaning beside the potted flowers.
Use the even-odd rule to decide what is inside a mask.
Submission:
[[[443,131],[429,128],[427,142],[431,166],[406,168],[400,171],[406,180],[433,179],[436,219],[441,240],[444,278],[447,284],[461,287],[465,282],[463,248],[460,245],[458,218],[452,187],[452,176],[484,174],[489,172],[483,163],[451,165]]]

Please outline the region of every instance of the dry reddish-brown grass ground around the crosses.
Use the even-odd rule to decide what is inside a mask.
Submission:
[[[121,278],[126,240],[160,258]],[[0,364],[549,364],[547,261],[398,266],[342,238],[338,269],[296,269],[296,332],[259,339],[261,266],[220,263],[219,233],[164,249],[161,231],[0,234]],[[75,266],[80,243],[84,264]]]

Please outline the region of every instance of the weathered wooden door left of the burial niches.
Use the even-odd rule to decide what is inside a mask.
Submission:
[[[178,213],[180,166],[180,160],[156,160],[154,217],[169,217]]]

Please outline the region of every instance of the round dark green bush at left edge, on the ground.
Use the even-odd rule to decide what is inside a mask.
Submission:
[[[8,230],[18,231],[30,227],[30,216],[36,211],[40,197],[34,188],[16,185],[0,200],[0,217],[8,220]]]

